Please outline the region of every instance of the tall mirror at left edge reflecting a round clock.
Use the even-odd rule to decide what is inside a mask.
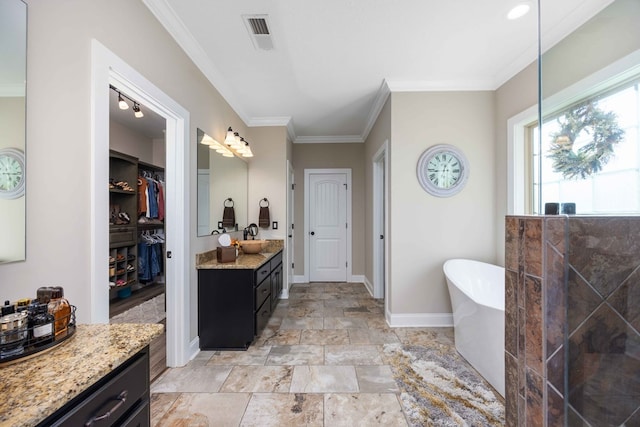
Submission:
[[[27,5],[0,1],[0,263],[26,256]]]

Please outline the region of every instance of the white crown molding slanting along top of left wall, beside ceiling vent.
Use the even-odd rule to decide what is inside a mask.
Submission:
[[[167,3],[166,0],[142,0],[145,6],[156,17],[160,24],[164,26],[167,32],[173,37],[178,45],[184,50],[193,63],[202,71],[209,82],[214,86],[220,95],[227,101],[236,114],[247,124],[250,122],[249,117],[240,107],[235,91],[221,77],[220,70],[211,62],[202,46],[193,37],[187,26],[180,20]]]

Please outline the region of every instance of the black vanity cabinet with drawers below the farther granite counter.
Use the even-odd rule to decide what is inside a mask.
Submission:
[[[281,292],[282,251],[256,269],[198,269],[200,349],[246,350],[266,326]]]

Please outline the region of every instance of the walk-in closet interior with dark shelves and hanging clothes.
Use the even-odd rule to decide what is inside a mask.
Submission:
[[[166,325],[166,122],[110,92],[109,321]],[[150,350],[153,380],[166,368],[166,334]]]

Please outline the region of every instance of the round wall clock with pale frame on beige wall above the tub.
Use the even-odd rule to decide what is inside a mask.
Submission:
[[[464,187],[469,177],[469,163],[453,145],[434,145],[420,156],[417,172],[418,181],[427,193],[450,197]]]

